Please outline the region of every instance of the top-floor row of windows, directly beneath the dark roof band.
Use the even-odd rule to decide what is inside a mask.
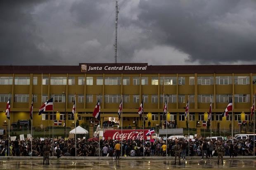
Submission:
[[[12,77],[0,77],[0,85],[12,85]],[[149,77],[132,77],[133,85],[149,85]],[[105,85],[130,85],[130,77],[105,77]],[[151,77],[151,85],[185,85],[185,77]],[[232,76],[217,76],[215,83],[217,85],[232,84]],[[33,85],[37,85],[38,77],[33,77]],[[50,85],[75,85],[75,77],[50,77]],[[178,83],[177,83],[178,82]],[[256,76],[253,77],[253,82],[256,84]],[[29,85],[30,77],[14,77],[15,85]],[[49,77],[43,77],[43,85],[49,84]],[[213,85],[214,77],[204,76],[197,77],[198,85]],[[247,85],[250,84],[249,76],[234,76],[234,84]],[[85,77],[78,77],[78,85],[85,85]],[[93,77],[86,77],[86,85],[93,85]],[[96,85],[103,85],[103,77],[96,77]],[[189,85],[194,85],[194,77],[189,77]]]

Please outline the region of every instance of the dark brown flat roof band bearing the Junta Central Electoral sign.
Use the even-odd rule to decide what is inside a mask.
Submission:
[[[80,63],[79,65],[0,65],[0,74],[230,74],[256,73],[256,65],[148,65]]]

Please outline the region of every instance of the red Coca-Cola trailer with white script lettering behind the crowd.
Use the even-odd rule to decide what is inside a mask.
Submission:
[[[144,129],[144,140],[147,140],[148,129]],[[143,140],[143,129],[121,129],[119,130],[105,130],[104,133],[105,140]]]

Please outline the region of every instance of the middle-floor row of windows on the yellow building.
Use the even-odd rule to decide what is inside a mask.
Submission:
[[[53,95],[50,96],[51,98]],[[7,102],[9,98],[9,94],[0,94],[0,102]],[[151,102],[152,103],[158,103],[166,101],[168,98],[169,103],[176,103],[177,102],[177,95],[160,95],[160,98],[158,95],[151,95]],[[96,101],[98,100],[102,101],[102,95],[96,95]],[[121,101],[121,95],[118,94],[107,94],[104,95],[104,99],[106,103],[118,103]],[[160,99],[160,100],[159,100]],[[189,95],[190,103],[194,103],[194,95]],[[213,99],[213,95],[209,94],[200,94],[198,95],[198,102],[199,103],[210,103],[211,99]],[[218,94],[216,95],[216,103],[226,103],[229,102],[232,99],[231,94]],[[46,102],[48,100],[48,95],[43,94],[42,95],[42,102]],[[54,102],[65,102],[66,98],[63,94],[56,94],[54,95]],[[68,102],[74,102],[75,95],[69,94],[68,95]],[[87,103],[93,102],[93,95],[92,94],[78,94],[78,102],[83,103],[84,100]],[[140,95],[133,95],[133,102],[139,103],[140,102]],[[149,95],[143,95],[143,101],[145,103],[149,102]],[[29,102],[29,94],[14,94],[14,102]],[[33,102],[37,102],[37,95],[33,95]],[[123,95],[123,102],[130,102],[130,95]],[[185,103],[185,95],[178,95],[178,102],[179,103]],[[212,102],[214,102],[212,100]],[[250,95],[249,94],[235,94],[235,102],[250,102]]]

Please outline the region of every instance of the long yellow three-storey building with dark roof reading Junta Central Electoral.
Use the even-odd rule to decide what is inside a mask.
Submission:
[[[88,63],[77,66],[0,66],[0,120],[5,116],[11,94],[10,122],[29,119],[33,94],[33,126],[52,125],[52,112],[38,116],[38,109],[54,96],[54,119],[71,126],[71,111],[76,96],[80,123],[89,123],[97,100],[101,100],[101,123],[118,121],[123,98],[123,126],[142,126],[137,113],[142,97],[144,116],[151,126],[163,119],[163,105],[168,96],[168,121],[186,127],[184,107],[189,98],[190,127],[207,121],[212,99],[212,128],[228,129],[231,113],[222,113],[232,99],[234,125],[250,121],[250,107],[256,93],[256,65],[147,65],[147,63]],[[66,101],[66,102],[65,102]],[[165,118],[164,118],[165,119]],[[226,120],[227,119],[227,120]],[[64,121],[63,121],[64,122]],[[121,124],[121,123],[120,123]],[[64,123],[62,123],[64,125]]]

